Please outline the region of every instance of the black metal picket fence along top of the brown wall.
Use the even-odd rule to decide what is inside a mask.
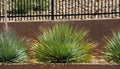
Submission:
[[[4,21],[4,0],[0,0]],[[7,0],[9,21],[120,18],[120,0]]]

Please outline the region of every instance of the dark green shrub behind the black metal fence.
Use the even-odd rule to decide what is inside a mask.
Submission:
[[[26,14],[31,11],[44,11],[48,8],[48,0],[11,0],[14,14]]]

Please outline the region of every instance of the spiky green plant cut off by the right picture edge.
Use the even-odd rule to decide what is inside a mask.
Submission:
[[[120,63],[120,32],[114,32],[113,37],[106,37],[105,60]]]

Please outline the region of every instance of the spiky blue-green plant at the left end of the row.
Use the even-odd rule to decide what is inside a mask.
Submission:
[[[0,34],[0,62],[17,63],[24,62],[27,58],[25,44],[10,31]]]

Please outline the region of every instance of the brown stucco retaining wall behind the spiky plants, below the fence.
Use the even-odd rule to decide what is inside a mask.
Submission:
[[[31,43],[38,36],[41,27],[50,28],[55,23],[68,23],[79,31],[81,28],[89,30],[88,40],[96,43],[93,49],[94,55],[99,55],[105,46],[104,36],[111,34],[112,30],[120,29],[120,19],[104,20],[72,20],[72,21],[39,21],[39,22],[9,22],[9,27],[16,31],[18,36],[24,37]],[[3,23],[0,23],[0,31]]]

